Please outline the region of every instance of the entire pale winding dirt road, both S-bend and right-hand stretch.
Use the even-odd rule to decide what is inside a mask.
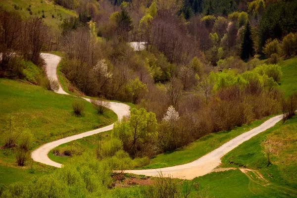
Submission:
[[[47,74],[49,78],[57,79],[56,75],[56,67],[60,61],[60,57],[52,54],[42,54],[43,58],[45,59],[47,63]],[[56,92],[59,94],[67,94],[63,91],[63,89],[60,87],[59,90]],[[86,99],[90,101],[89,99]],[[129,106],[122,103],[116,103],[116,102],[110,102],[111,108],[117,115],[119,120],[124,116],[129,114]],[[163,174],[170,174],[172,177],[175,178],[181,178],[181,179],[193,179],[195,177],[206,175],[220,165],[221,163],[221,157],[223,157],[225,154],[227,154],[232,149],[236,148],[243,142],[249,140],[253,136],[273,127],[277,122],[279,122],[282,119],[282,115],[278,115],[275,117],[270,118],[260,126],[243,133],[236,138],[232,139],[231,141],[225,143],[221,147],[209,152],[208,154],[200,157],[199,159],[183,164],[178,166],[172,166],[167,168],[160,168],[160,169],[148,169],[148,170],[126,170],[124,172],[127,173],[134,173],[134,174],[142,174],[147,176],[155,176],[157,175],[157,172],[162,171]],[[48,153],[52,148],[55,148],[61,144],[71,142],[73,140],[77,140],[83,137],[91,136],[103,131],[111,130],[113,128],[113,124],[96,129],[94,131],[85,132],[82,134],[78,134],[75,136],[70,136],[67,138],[63,138],[51,143],[48,143],[46,145],[43,145],[40,148],[37,148],[32,152],[32,158],[35,161],[45,163],[51,166],[55,167],[61,167],[62,165],[59,163],[56,163],[54,161],[51,161],[48,157]]]

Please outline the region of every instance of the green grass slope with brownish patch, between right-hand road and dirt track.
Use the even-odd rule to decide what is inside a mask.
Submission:
[[[225,167],[247,167],[259,169],[270,181],[297,189],[297,116],[279,122],[239,147],[223,158]],[[268,165],[264,148],[272,147],[271,161]]]

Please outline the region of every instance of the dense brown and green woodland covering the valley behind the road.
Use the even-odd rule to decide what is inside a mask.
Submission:
[[[78,13],[59,30],[0,9],[0,77],[22,78],[20,59],[42,67],[41,51],[65,51],[61,71],[81,93],[136,104],[115,124],[115,151],[152,157],[292,111],[277,63],[297,53],[296,0],[54,2]]]

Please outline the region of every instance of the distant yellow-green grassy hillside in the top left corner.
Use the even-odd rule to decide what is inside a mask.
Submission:
[[[43,20],[46,24],[58,28],[61,20],[70,16],[76,16],[76,12],[73,10],[66,9],[62,6],[55,5],[50,0],[4,0],[0,2],[0,5],[6,10],[15,10],[13,4],[16,4],[22,9],[16,10],[22,16],[29,17],[29,11],[27,8],[31,5],[30,9],[33,12],[32,16],[41,17],[44,10],[46,18]],[[54,18],[52,18],[52,14]],[[58,14],[60,16],[58,16]]]

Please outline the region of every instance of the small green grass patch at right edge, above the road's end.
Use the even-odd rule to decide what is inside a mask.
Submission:
[[[297,92],[297,57],[279,63],[282,66],[283,76],[280,82],[280,90],[285,96]]]

